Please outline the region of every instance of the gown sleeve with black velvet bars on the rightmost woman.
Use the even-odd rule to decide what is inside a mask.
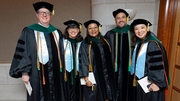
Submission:
[[[149,42],[147,52],[147,63],[148,63],[148,79],[159,87],[167,87],[167,66],[165,66],[164,60],[166,56],[163,54],[164,50],[160,47],[158,42]],[[163,50],[163,51],[162,51]]]

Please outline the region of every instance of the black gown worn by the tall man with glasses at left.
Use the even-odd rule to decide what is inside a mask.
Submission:
[[[37,26],[40,27],[40,29],[42,28],[39,25]],[[60,55],[62,65],[64,65],[62,34],[60,30],[56,30],[59,33]],[[28,27],[23,29],[22,34],[17,42],[9,74],[13,78],[20,78],[22,77],[22,73],[28,73],[30,76],[29,81],[32,86],[32,94],[29,96],[27,93],[27,101],[65,101],[63,89],[64,74],[63,72],[60,72],[56,43],[51,32],[44,32],[44,36],[49,53],[49,61],[44,65],[46,84],[42,84],[41,63],[39,67],[40,70],[38,70],[37,67],[36,38],[34,30]],[[64,70],[62,69],[62,71]]]

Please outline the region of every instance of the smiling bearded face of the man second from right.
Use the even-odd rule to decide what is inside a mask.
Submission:
[[[127,17],[124,13],[118,13],[115,17],[115,23],[117,27],[123,28],[127,24]]]

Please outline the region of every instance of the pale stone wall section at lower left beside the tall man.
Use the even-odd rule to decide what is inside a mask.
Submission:
[[[10,64],[0,64],[0,101],[26,101],[26,89],[21,78],[9,76]]]

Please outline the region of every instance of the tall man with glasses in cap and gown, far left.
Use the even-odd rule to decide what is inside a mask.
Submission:
[[[33,7],[38,23],[23,29],[9,74],[31,85],[27,101],[66,101],[62,33],[50,24],[53,5],[37,2]]]

